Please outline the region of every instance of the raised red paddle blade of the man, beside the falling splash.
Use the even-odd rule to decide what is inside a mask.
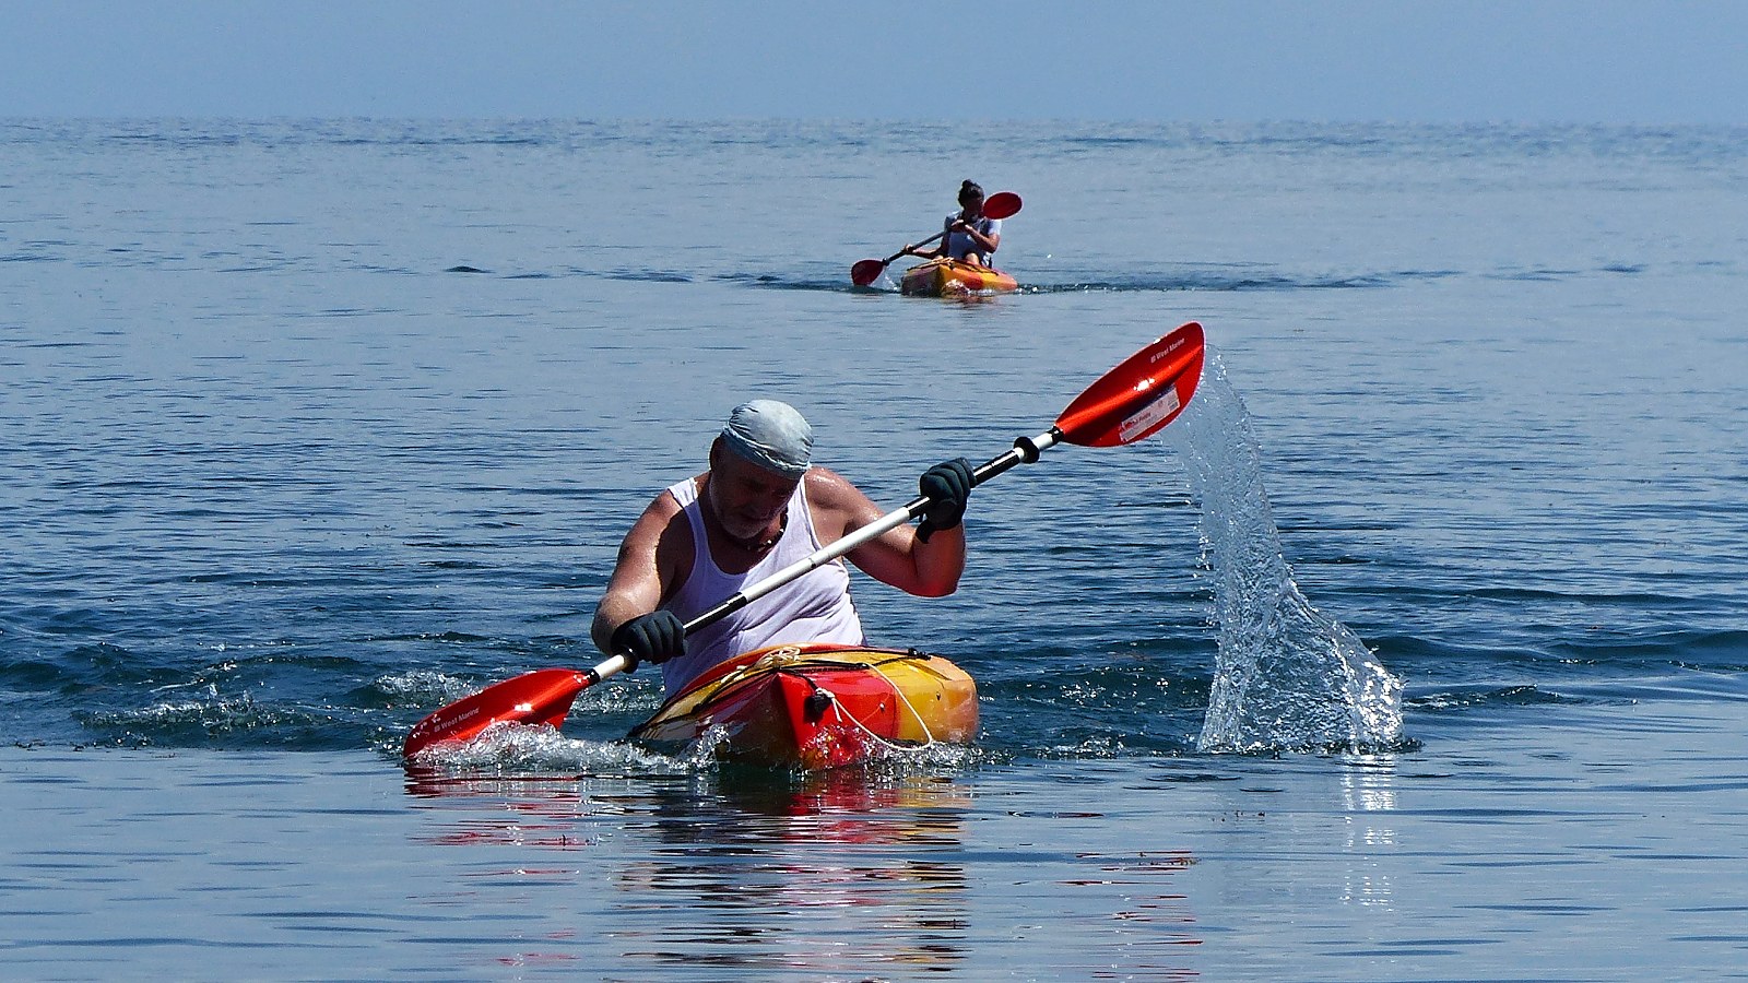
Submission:
[[[1145,439],[1171,423],[1201,381],[1203,331],[1189,322],[1129,355],[1087,387],[1056,418],[1063,439],[1082,448],[1110,448]]]

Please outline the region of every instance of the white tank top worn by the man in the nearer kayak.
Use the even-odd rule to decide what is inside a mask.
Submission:
[[[685,479],[668,490],[680,502],[680,511],[692,523],[692,572],[680,589],[662,607],[680,621],[729,600],[741,588],[755,584],[783,567],[820,549],[820,535],[813,530],[813,512],[808,509],[806,481],[795,485],[788,498],[788,518],[776,546],[745,574],[724,574],[710,554],[704,535],[703,505],[697,500],[697,483]],[[741,652],[780,645],[785,642],[836,642],[862,645],[862,619],[850,600],[850,570],[843,560],[832,560],[809,570],[795,581],[767,593],[715,624],[699,628],[685,640],[685,656],[668,659],[661,666],[662,687],[673,694],[710,666]]]

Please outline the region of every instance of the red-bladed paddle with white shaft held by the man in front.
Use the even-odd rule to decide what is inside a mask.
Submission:
[[[1084,448],[1112,448],[1150,437],[1189,406],[1190,395],[1196,394],[1196,383],[1201,381],[1201,369],[1203,329],[1199,324],[1189,322],[1105,373],[1075,397],[1068,409],[1063,409],[1049,430],[1037,437],[1014,441],[1014,450],[977,467],[972,472],[972,486],[975,488],[1017,464],[1035,464],[1040,453],[1065,441]],[[837,542],[816,549],[804,560],[783,567],[687,621],[685,633],[690,635],[715,624],[783,584],[851,553],[864,542],[879,539],[921,516],[928,509],[928,502],[926,497],[916,498]],[[626,656],[608,656],[589,670],[544,668],[488,686],[420,721],[407,735],[402,754],[413,757],[437,743],[472,740],[491,724],[503,721],[558,728],[565,722],[565,714],[570,712],[579,693],[624,672],[626,665],[629,665]]]

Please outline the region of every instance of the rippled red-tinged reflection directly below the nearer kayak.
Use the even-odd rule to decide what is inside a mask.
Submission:
[[[864,780],[736,780],[706,808],[685,789],[656,791],[642,824],[652,848],[614,882],[633,904],[685,913],[689,931],[649,948],[628,939],[628,953],[815,973],[963,960],[965,796]]]

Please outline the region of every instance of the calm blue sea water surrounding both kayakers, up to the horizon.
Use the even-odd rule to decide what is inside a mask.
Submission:
[[[1021,294],[850,289],[967,177]],[[1745,257],[1741,129],[0,121],[0,971],[1748,976]],[[897,505],[1185,320],[857,584],[972,749],[402,770],[741,399]]]

